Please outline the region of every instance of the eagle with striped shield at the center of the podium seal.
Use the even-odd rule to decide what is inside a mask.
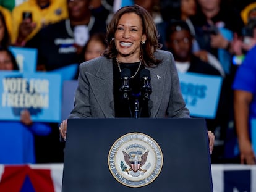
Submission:
[[[134,177],[138,177],[140,172],[145,173],[150,164],[147,165],[146,169],[142,169],[142,166],[147,162],[149,151],[146,151],[145,147],[140,144],[132,144],[126,148],[126,151],[122,151],[122,154],[124,154],[124,161],[129,168],[126,167],[123,171],[127,174],[130,172],[130,175]]]

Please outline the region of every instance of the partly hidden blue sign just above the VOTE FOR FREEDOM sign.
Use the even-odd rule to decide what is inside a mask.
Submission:
[[[36,71],[37,49],[9,47],[19,65],[20,72],[34,73]]]

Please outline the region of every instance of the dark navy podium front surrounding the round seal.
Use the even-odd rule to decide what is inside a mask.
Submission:
[[[161,148],[163,166],[149,185],[122,185],[109,170],[109,150],[127,133],[148,135]],[[205,119],[69,119],[62,191],[213,191]]]

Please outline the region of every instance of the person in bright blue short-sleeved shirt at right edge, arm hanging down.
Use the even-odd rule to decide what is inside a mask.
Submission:
[[[246,54],[234,78],[234,120],[241,164],[256,164],[251,120],[256,118],[256,46]]]

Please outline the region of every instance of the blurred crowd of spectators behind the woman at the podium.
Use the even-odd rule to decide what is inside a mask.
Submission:
[[[45,72],[100,56],[106,48],[106,25],[111,16],[129,4],[138,4],[150,12],[161,49],[173,53],[179,72],[223,78],[216,117],[206,119],[208,130],[215,133],[212,163],[255,164],[250,141],[250,120],[256,118],[253,0],[3,0],[0,70],[19,70],[9,46],[36,48],[36,70]],[[31,132],[30,139],[35,138],[35,149],[30,149],[35,157],[18,163],[63,161],[64,143],[59,142],[55,123],[32,122],[28,111],[22,111],[19,125],[0,123],[1,131],[23,126]],[[31,130],[32,126],[38,134]],[[12,163],[8,161],[0,157],[0,164]]]

